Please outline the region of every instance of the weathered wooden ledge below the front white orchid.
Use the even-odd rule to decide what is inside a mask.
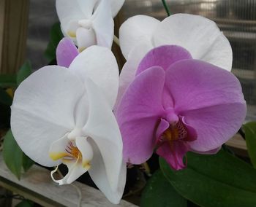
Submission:
[[[125,206],[132,203],[121,200],[119,205],[110,203],[99,190],[75,181],[73,184],[82,192],[81,206]],[[0,186],[33,200],[42,206],[78,206],[78,191],[72,185],[59,186],[50,178],[50,171],[37,165],[21,176],[20,181],[12,175],[0,154]]]

